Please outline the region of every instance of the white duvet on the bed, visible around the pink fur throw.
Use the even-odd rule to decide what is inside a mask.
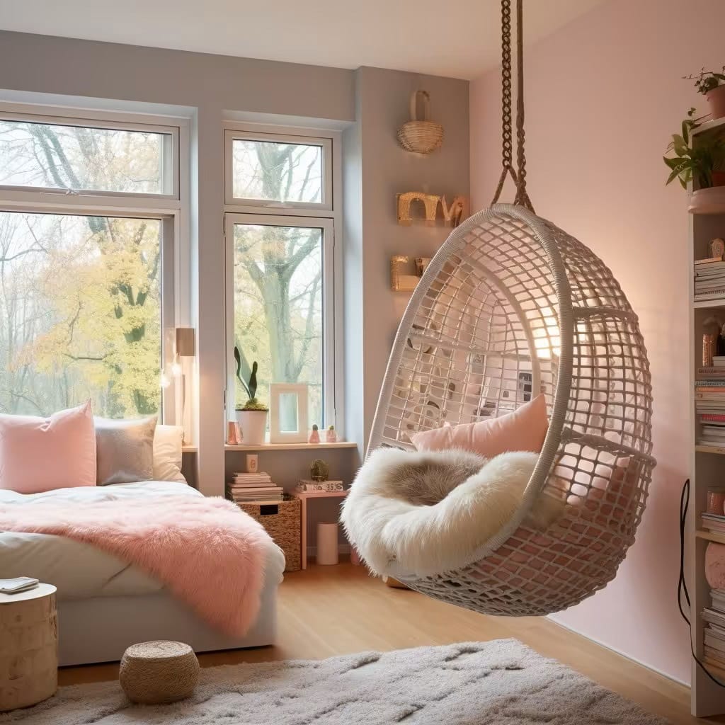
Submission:
[[[0,490],[0,505],[18,505],[33,516],[33,504],[64,501],[82,506],[90,501],[109,501],[158,496],[201,496],[185,484],[167,481],[141,481],[115,486],[79,486],[41,494],[17,494]],[[129,515],[133,515],[132,510]],[[266,553],[265,581],[281,581],[284,555],[270,542]],[[34,576],[58,588],[59,599],[146,595],[159,592],[163,585],[115,556],[90,544],[49,534],[16,534],[0,531],[0,579]]]

